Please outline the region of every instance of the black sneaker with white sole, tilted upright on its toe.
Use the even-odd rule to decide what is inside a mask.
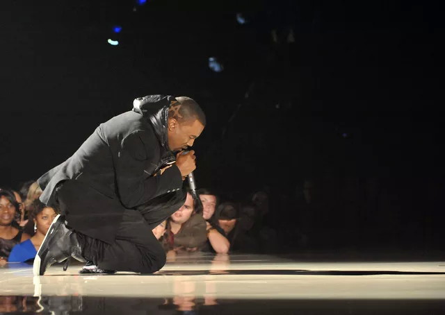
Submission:
[[[67,228],[65,216],[58,214],[51,223],[37,255],[35,255],[33,273],[34,275],[43,275],[49,266],[56,262],[64,262],[70,257],[74,257],[79,262],[85,262],[81,253],[76,233]],[[64,270],[66,268],[67,264],[65,264]]]

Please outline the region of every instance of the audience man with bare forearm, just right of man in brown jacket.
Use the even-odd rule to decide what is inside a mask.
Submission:
[[[225,237],[225,232],[218,224],[218,219],[215,216],[218,196],[209,189],[198,189],[197,194],[202,203],[202,217],[207,224],[207,248],[203,250],[218,254],[228,253],[229,240]]]

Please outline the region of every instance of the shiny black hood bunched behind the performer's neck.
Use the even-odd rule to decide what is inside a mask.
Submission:
[[[154,128],[161,145],[170,151],[167,141],[168,108],[176,101],[171,95],[147,95],[133,101],[133,112],[143,115]]]

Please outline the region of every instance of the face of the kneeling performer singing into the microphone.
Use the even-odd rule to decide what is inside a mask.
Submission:
[[[174,118],[168,119],[168,147],[171,151],[185,150],[188,146],[193,146],[195,139],[204,130],[204,125],[197,119],[182,121],[179,123]]]

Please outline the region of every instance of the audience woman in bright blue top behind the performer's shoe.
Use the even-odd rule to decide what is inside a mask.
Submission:
[[[35,234],[31,239],[26,239],[26,241],[14,246],[8,262],[26,262],[34,259],[44,236],[47,235],[49,226],[57,215],[52,207],[47,207],[39,199],[33,202],[32,209],[30,220],[34,223]]]

